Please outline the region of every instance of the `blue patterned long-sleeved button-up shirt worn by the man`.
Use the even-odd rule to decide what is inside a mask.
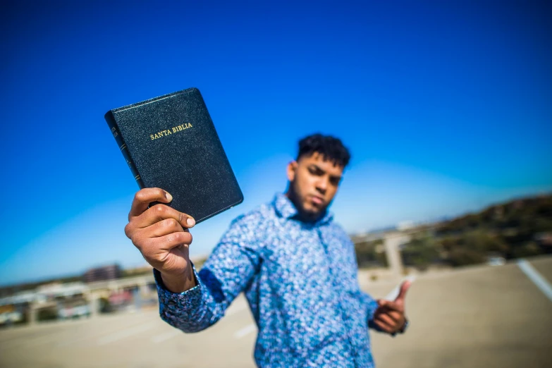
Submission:
[[[154,270],[161,318],[202,331],[244,292],[259,367],[374,367],[368,325],[377,304],[358,286],[350,238],[329,212],[315,223],[297,215],[277,194],[239,216],[183,293],[166,290]]]

